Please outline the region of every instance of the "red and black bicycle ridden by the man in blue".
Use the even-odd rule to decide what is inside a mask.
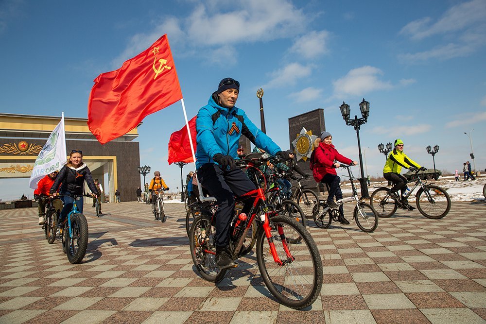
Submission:
[[[267,161],[261,155],[250,153],[243,160],[256,184],[260,184],[258,166]],[[276,157],[272,160],[272,163],[278,163]],[[267,203],[260,185],[237,198],[237,205],[248,198],[252,198],[253,203],[247,220],[241,221],[235,216],[229,231],[229,250],[233,259],[249,252],[243,243],[256,222],[257,263],[268,290],[287,307],[302,309],[310,306],[319,296],[323,275],[314,240],[302,224],[279,215],[275,207]],[[189,236],[192,261],[202,278],[217,282],[227,270],[221,270],[215,260],[215,209],[205,208],[202,203],[200,210],[201,215],[192,223]]]

